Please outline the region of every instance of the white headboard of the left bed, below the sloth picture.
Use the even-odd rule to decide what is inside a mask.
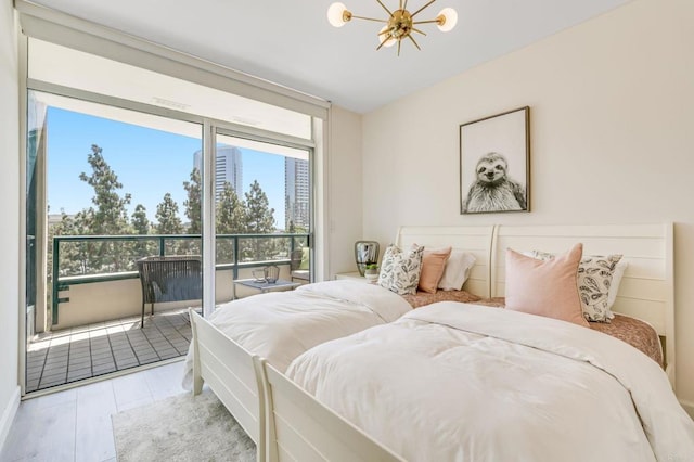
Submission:
[[[463,288],[480,297],[491,294],[490,258],[493,226],[488,227],[401,227],[396,235],[400,247],[411,244],[425,247],[447,247],[470,252],[475,256],[475,266]]]

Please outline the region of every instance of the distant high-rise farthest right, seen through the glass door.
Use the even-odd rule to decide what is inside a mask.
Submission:
[[[308,161],[285,157],[284,158],[284,224],[285,230],[290,223],[295,227],[309,228],[309,182]]]

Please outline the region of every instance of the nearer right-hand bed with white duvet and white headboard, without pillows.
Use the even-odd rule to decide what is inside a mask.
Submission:
[[[624,255],[629,265],[614,306],[621,315],[609,328],[619,332],[622,321],[639,318],[647,336],[660,336],[650,343],[659,350],[663,342],[664,361],[619,335],[439,303],[319,345],[286,374],[407,460],[692,460],[694,425],[672,393],[670,223],[494,227],[493,298],[483,303],[503,301],[505,248],[561,252],[577,241],[584,255]],[[281,392],[270,390],[268,455],[300,453],[314,440],[287,422],[303,411],[273,419]]]

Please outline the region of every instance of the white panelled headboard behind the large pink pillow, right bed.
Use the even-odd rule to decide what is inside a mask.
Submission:
[[[667,372],[674,384],[672,223],[498,226],[492,244],[491,295],[504,295],[506,248],[562,253],[578,242],[583,243],[583,255],[624,255],[629,266],[613,311],[642,319],[665,337]]]

